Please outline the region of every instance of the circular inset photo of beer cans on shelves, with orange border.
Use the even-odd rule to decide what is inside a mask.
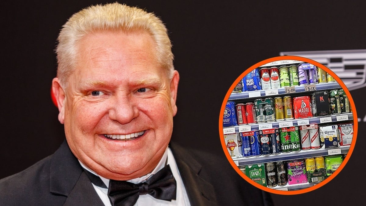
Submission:
[[[346,165],[357,114],[346,85],[314,60],[278,56],[245,70],[228,89],[219,132],[232,167],[275,194],[322,187]]]

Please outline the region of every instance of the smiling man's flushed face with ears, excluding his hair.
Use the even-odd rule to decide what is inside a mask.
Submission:
[[[168,79],[144,32],[88,34],[78,46],[67,87],[53,80],[72,152],[109,179],[151,172],[171,138],[178,72]]]

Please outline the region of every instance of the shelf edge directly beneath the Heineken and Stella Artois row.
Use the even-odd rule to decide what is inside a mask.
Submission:
[[[348,150],[350,150],[350,146],[340,146],[338,148],[300,150],[299,152],[280,153],[277,155],[271,154],[269,156],[261,155],[258,157],[242,157],[242,158],[235,158],[232,160],[236,162],[238,166],[242,166],[242,165],[262,164],[266,162],[287,161],[291,159],[303,159],[309,157],[326,156],[332,154],[343,154],[347,153]]]

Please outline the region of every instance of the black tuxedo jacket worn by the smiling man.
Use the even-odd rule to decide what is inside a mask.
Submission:
[[[192,206],[272,205],[266,192],[250,185],[227,159],[169,146]],[[66,141],[55,154],[30,168],[0,180],[0,205],[103,206]]]

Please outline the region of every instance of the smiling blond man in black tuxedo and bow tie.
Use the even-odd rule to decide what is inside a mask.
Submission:
[[[179,74],[159,18],[92,6],[58,41],[52,90],[66,141],[0,180],[1,205],[272,204],[227,161],[169,144]]]

